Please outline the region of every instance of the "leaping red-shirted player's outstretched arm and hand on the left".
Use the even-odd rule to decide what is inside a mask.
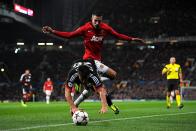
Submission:
[[[84,27],[79,27],[78,29],[76,29],[75,31],[72,32],[63,32],[63,31],[57,31],[52,29],[49,26],[44,26],[42,28],[43,33],[52,33],[54,35],[60,36],[60,37],[64,37],[64,38],[72,38],[72,37],[76,37],[76,36],[81,36],[83,34],[83,30]]]

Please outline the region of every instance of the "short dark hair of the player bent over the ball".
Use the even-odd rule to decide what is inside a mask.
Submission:
[[[87,80],[90,74],[90,69],[86,65],[81,65],[78,68],[78,73],[83,80]]]

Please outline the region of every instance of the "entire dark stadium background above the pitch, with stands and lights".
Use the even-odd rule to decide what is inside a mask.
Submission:
[[[19,79],[30,69],[37,101],[44,100],[47,77],[52,100],[64,100],[72,62],[83,55],[82,38],[43,34],[45,25],[72,31],[90,21],[93,10],[120,33],[145,39],[147,45],[107,37],[103,63],[118,72],[113,99],[164,99],[161,70],[171,56],[182,66],[182,86],[196,86],[196,8],[185,0],[0,0],[0,100],[19,101]],[[196,99],[195,90],[183,94]],[[91,97],[97,99],[97,96]]]

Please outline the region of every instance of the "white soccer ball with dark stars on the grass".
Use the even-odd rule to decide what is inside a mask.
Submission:
[[[89,121],[88,114],[85,111],[76,111],[73,116],[73,123],[76,124],[77,126],[86,126]]]

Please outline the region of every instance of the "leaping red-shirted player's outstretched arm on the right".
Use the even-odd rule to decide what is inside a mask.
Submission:
[[[115,31],[112,27],[110,27],[109,25],[106,25],[107,30],[109,31],[110,34],[114,35],[115,37],[122,39],[122,40],[128,40],[128,41],[138,41],[138,42],[142,42],[145,43],[143,39],[141,38],[137,38],[137,37],[132,37],[132,36],[127,36],[121,33],[118,33],[117,31]]]

